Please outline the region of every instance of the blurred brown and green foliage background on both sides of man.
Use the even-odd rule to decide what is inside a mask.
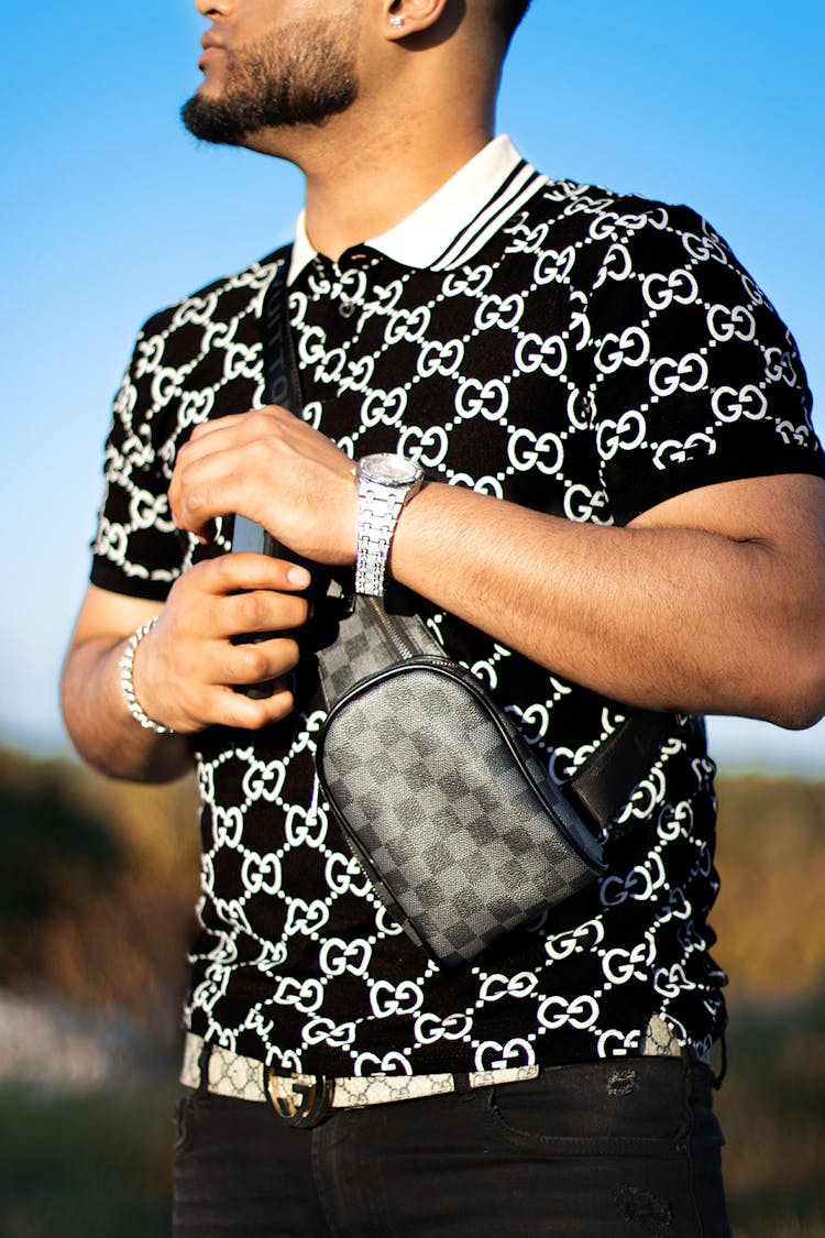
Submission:
[[[735,1233],[825,1238],[825,782],[729,775],[719,792],[712,922],[732,984],[717,1107]],[[109,782],[6,750],[0,813],[0,1234],[160,1238],[198,889],[194,785]],[[22,1058],[10,1013],[17,1039],[32,1020]],[[46,1018],[98,1037],[94,1070],[38,1062]],[[68,1062],[57,1044],[43,1052]]]

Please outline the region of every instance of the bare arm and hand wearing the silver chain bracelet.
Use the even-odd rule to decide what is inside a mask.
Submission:
[[[165,782],[192,768],[187,737],[213,724],[257,729],[282,718],[293,707],[283,677],[297,662],[296,641],[234,645],[231,636],[303,624],[307,603],[287,591],[307,583],[294,565],[228,555],[186,572],[163,605],[90,586],[62,677],[63,717],[84,760],[111,777]],[[137,646],[134,683],[145,713],[174,732],[166,735],[131,717],[120,685],[126,641],[155,615]],[[270,678],[276,690],[265,699],[234,691]]]

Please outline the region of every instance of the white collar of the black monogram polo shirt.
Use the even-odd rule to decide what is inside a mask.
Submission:
[[[365,240],[364,244],[404,266],[432,266],[461,229],[466,228],[485,207],[495,188],[502,184],[521,162],[521,155],[506,134],[494,137],[412,214],[390,232]],[[302,210],[296,223],[289,284],[317,253],[307,235],[306,215]]]

